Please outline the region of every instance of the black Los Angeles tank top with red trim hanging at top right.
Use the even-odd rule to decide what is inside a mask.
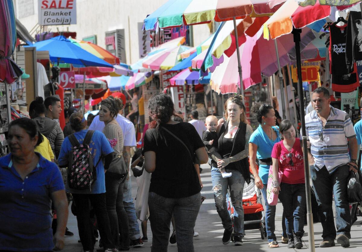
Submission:
[[[329,26],[329,59],[331,59],[330,71],[332,74],[348,74],[346,65],[346,37],[347,25]]]

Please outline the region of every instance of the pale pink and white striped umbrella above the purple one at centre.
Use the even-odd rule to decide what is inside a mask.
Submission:
[[[169,70],[180,63],[177,59],[182,52],[189,50],[188,46],[177,46],[160,51],[143,61],[142,67],[156,70]]]

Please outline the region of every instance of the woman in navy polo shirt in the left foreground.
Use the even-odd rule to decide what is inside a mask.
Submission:
[[[29,118],[9,125],[10,154],[0,158],[0,251],[52,251],[64,247],[68,201],[59,168],[35,146],[42,142]],[[51,229],[51,202],[58,216]]]

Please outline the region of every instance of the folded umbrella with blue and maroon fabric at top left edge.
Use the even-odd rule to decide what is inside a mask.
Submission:
[[[16,44],[16,26],[12,0],[0,0],[0,82],[11,84],[22,70],[12,60]]]

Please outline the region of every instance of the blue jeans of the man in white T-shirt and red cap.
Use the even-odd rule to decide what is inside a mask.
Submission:
[[[132,181],[125,179],[125,187],[123,188],[123,206],[128,215],[129,235],[131,240],[141,238],[139,233],[139,225],[137,222],[135,204],[132,199]]]

